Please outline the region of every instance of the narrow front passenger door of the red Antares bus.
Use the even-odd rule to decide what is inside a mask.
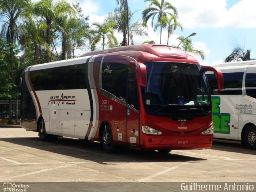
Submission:
[[[136,79],[127,81],[127,143],[132,148],[140,148],[139,103]]]

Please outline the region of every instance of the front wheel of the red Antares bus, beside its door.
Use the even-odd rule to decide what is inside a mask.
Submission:
[[[104,125],[103,133],[102,133],[102,147],[105,152],[107,153],[113,153],[115,152],[115,144],[114,144],[114,138],[111,131],[110,126]]]

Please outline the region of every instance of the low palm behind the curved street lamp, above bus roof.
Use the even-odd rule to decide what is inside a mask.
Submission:
[[[187,54],[188,53],[192,53],[194,55],[198,55],[198,56],[200,56],[202,58],[202,60],[205,59],[204,51],[199,50],[199,49],[195,49],[192,46],[192,40],[190,38],[186,38],[184,40],[183,36],[179,36],[177,39],[183,41],[181,47],[182,47],[182,50],[184,50],[184,52],[186,52]],[[174,46],[174,47],[177,47],[177,46]]]

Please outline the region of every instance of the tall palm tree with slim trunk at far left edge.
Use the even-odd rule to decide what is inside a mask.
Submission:
[[[14,44],[18,38],[19,34],[19,19],[22,18],[26,8],[30,5],[30,0],[0,0],[0,17],[4,18],[4,24],[2,25],[2,30],[0,36],[6,38],[10,45],[10,56],[9,56],[9,66],[10,66],[10,78],[9,84],[12,84],[12,76],[14,71]],[[12,88],[10,88],[9,96],[9,120],[8,123],[12,123]]]

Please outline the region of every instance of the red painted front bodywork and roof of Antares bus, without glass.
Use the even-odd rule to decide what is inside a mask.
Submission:
[[[82,56],[103,54],[103,62],[120,62],[123,64],[128,64],[135,68],[137,81],[139,82],[139,84],[142,82],[143,79],[146,79],[145,72],[143,73],[143,70],[145,71],[146,68],[143,63],[149,61],[170,61],[198,64],[197,60],[194,57],[187,55],[180,49],[171,47],[170,49],[167,49],[167,51],[168,52],[166,52],[166,46],[152,47],[152,44],[148,44],[144,46],[126,46],[112,48],[109,50],[100,50],[96,52],[86,53]],[[116,52],[118,52],[118,54]],[[159,57],[164,54],[172,54],[172,56],[170,56],[171,58],[166,58],[166,56]],[[138,65],[141,65],[141,68],[136,68],[136,66],[134,65],[135,62],[138,63]],[[94,81],[96,87],[98,86],[99,71],[100,70],[98,63],[94,64]],[[142,77],[141,75],[144,76]],[[142,101],[140,85],[138,85],[138,89],[139,100]],[[136,112],[132,111],[134,116],[131,118],[131,126],[128,125],[127,127],[127,107],[100,94],[100,91],[98,89],[97,94],[100,106],[100,115],[98,130],[94,140],[99,140],[98,136],[101,122],[107,121],[112,128],[115,143],[119,145],[141,148],[145,150],[206,149],[212,146],[213,134],[201,134],[204,130],[208,129],[212,125],[212,114],[207,117],[194,118],[193,120],[186,122],[189,133],[185,133],[182,130],[178,129],[180,125],[180,122],[178,121],[174,121],[168,117],[152,116],[146,114],[143,103],[140,102],[139,114],[136,114]],[[105,100],[108,100],[108,105],[112,106],[112,111],[106,111],[106,109],[102,107],[104,106],[104,104],[102,104],[102,101]],[[139,121],[137,127],[136,121]],[[143,124],[152,126],[157,130],[163,132],[163,134],[160,136],[144,134],[141,129],[141,126]],[[131,144],[129,141],[129,136],[131,136],[130,133],[132,132],[132,128],[134,127],[136,127],[136,130],[138,130],[139,132],[138,136],[136,136],[136,145]],[[120,134],[122,134],[122,140],[120,138]],[[152,142],[149,142],[149,139],[151,139]]]

